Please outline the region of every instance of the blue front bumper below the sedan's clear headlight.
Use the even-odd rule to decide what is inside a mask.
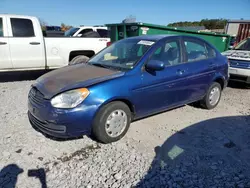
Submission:
[[[80,105],[74,109],[56,109],[49,101],[39,105],[28,101],[31,125],[42,133],[57,138],[73,138],[91,133],[96,106]]]

